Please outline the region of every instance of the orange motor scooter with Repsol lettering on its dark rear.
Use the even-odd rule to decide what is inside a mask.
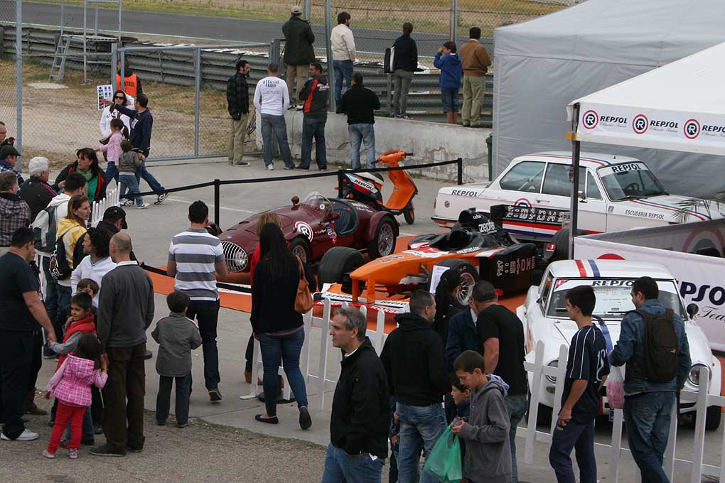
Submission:
[[[378,158],[378,163],[385,167],[395,168],[399,161],[406,156],[413,156],[413,153],[405,151],[388,151]],[[394,215],[402,214],[407,224],[415,222],[415,211],[413,211],[413,197],[418,194],[418,188],[405,169],[389,171],[388,177],[393,183],[393,193],[388,201],[383,201],[382,173],[378,172],[341,172],[339,176],[340,198],[347,198],[360,203],[365,203],[378,211],[388,211]]]

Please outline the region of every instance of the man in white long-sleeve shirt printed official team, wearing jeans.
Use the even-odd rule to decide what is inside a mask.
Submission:
[[[292,154],[287,143],[287,125],[284,122],[284,112],[289,107],[289,92],[287,84],[277,77],[279,66],[269,64],[267,76],[257,83],[254,89],[254,108],[262,116],[262,146],[265,151],[265,166],[272,171],[272,143],[277,138],[279,151],[284,161],[284,169],[294,169]]]

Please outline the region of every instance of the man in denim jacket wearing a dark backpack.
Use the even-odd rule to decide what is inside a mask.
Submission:
[[[690,368],[689,344],[679,314],[658,301],[659,287],[641,277],[631,288],[637,310],[622,319],[619,340],[609,354],[613,366],[627,365],[624,420],[629,449],[642,482],[668,482],[662,469],[672,407]]]

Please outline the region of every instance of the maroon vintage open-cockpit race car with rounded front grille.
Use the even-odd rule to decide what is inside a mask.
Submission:
[[[357,201],[326,198],[310,193],[304,201],[297,196],[291,206],[282,206],[265,213],[276,213],[282,219],[282,232],[292,253],[302,261],[322,258],[334,247],[368,253],[370,259],[393,253],[398,236],[398,222],[392,214],[375,211]],[[262,213],[239,222],[219,235],[224,249],[228,277],[220,282],[239,283],[241,274],[249,272],[249,259],[257,248],[257,220]],[[362,256],[362,254],[360,254]]]

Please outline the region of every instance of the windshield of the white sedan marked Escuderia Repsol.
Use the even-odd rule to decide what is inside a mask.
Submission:
[[[667,194],[645,163],[614,164],[597,172],[612,201]]]

